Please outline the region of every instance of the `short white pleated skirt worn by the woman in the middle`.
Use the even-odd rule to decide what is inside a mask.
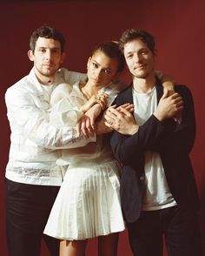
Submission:
[[[119,164],[69,166],[44,233],[80,240],[122,232]]]

